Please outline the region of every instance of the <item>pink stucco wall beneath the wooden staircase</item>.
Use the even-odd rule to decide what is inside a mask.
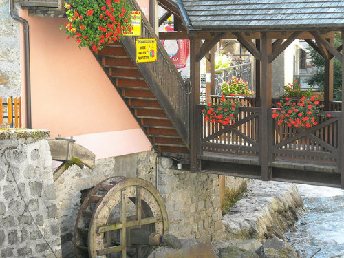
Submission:
[[[30,24],[32,127],[50,130],[51,138],[82,136],[85,147],[87,136],[92,145],[104,138],[98,133],[108,133],[111,139],[104,140],[105,145],[116,138],[122,142],[116,155],[149,149],[149,141],[92,52],[79,50],[60,30],[66,20],[29,17],[26,10],[20,14]],[[136,142],[129,147],[123,138]],[[98,158],[111,156],[97,151]]]

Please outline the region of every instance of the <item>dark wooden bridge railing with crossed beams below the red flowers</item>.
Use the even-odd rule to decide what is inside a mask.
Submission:
[[[212,100],[217,102],[219,97],[212,96]],[[235,125],[224,126],[205,122],[201,111],[198,112],[199,156],[206,151],[207,154],[223,153],[259,158],[261,109],[254,107],[255,98],[239,97],[239,100],[241,105],[246,107],[239,109]],[[275,107],[277,102],[277,98],[272,99]],[[198,105],[197,108],[202,110],[204,105]],[[272,135],[269,138],[270,166],[298,169],[301,166],[293,166],[292,163],[299,162],[302,167],[312,166],[312,169],[316,171],[325,171],[324,167],[327,167],[327,171],[338,172],[342,135],[341,102],[330,103],[330,108],[332,111],[321,111],[325,117],[319,116],[318,125],[308,129],[278,125],[272,118],[273,109],[270,109],[269,122],[266,125],[266,128],[272,127]],[[330,118],[327,117],[328,114]],[[252,160],[257,160],[257,158],[252,157]],[[257,160],[257,164],[261,164],[260,160]]]

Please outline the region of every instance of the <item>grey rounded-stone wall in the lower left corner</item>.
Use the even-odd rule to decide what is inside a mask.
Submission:
[[[0,130],[0,257],[61,257],[48,136]]]

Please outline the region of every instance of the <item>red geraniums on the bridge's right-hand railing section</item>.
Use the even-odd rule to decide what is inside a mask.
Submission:
[[[272,118],[277,120],[277,125],[286,125],[287,127],[309,128],[318,125],[317,118],[325,117],[321,114],[321,107],[317,96],[305,97],[300,100],[293,100],[286,97],[277,103],[278,108],[272,111]],[[328,114],[327,117],[331,115]]]

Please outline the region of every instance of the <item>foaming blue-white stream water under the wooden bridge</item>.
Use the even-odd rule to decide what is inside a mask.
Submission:
[[[286,233],[302,257],[344,258],[344,190],[298,184],[306,211],[299,216],[297,231]]]

